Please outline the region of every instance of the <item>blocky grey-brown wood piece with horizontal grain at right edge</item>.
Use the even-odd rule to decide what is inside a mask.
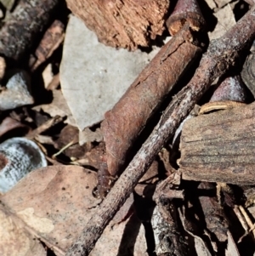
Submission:
[[[184,123],[178,162],[183,179],[254,185],[255,103]]]

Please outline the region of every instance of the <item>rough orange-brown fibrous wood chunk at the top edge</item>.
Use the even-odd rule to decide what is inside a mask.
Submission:
[[[169,0],[67,0],[72,13],[95,31],[99,42],[111,47],[148,46],[164,31]]]

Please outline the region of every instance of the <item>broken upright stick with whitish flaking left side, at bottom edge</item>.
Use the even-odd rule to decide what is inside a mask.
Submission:
[[[177,173],[171,174],[156,186],[153,195],[156,208],[152,214],[151,225],[154,231],[156,255],[158,256],[180,256],[190,253],[186,238],[184,238],[178,223],[176,203],[173,202],[173,196],[184,199],[182,191],[174,190],[174,188],[178,188],[179,183],[180,176]]]

